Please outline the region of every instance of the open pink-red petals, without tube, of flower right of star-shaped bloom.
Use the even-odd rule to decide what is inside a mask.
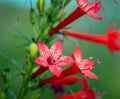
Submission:
[[[75,59],[76,66],[85,76],[93,79],[98,79],[98,77],[90,71],[95,66],[94,62],[90,59],[82,59],[82,53],[78,46],[73,52],[73,58]]]

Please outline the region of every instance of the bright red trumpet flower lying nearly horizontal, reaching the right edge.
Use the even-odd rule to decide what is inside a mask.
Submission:
[[[88,41],[92,41],[95,43],[100,43],[106,45],[109,50],[113,53],[114,51],[120,50],[120,31],[114,30],[115,24],[112,24],[108,29],[106,34],[87,34],[81,32],[74,32],[69,30],[62,30],[62,32],[66,35],[73,36],[79,39],[84,39]]]

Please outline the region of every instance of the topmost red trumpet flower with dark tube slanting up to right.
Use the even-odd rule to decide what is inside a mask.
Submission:
[[[60,29],[64,28],[68,24],[72,23],[79,17],[87,14],[88,16],[92,18],[96,18],[98,20],[102,20],[100,16],[96,14],[96,12],[100,11],[101,9],[101,4],[100,2],[90,2],[88,3],[88,0],[76,0],[78,7],[74,12],[72,12],[67,18],[65,18],[58,26],[53,28],[49,35],[54,34],[55,32],[59,31]]]

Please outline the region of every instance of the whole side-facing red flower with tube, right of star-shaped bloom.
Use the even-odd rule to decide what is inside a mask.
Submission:
[[[95,66],[94,62],[90,59],[82,59],[82,54],[79,47],[75,48],[75,51],[73,52],[73,58],[76,64],[64,70],[59,77],[52,76],[48,79],[45,79],[39,82],[39,85],[42,86],[44,84],[51,83],[55,80],[58,80],[60,78],[67,77],[69,75],[73,75],[76,73],[82,73],[85,76],[92,79],[98,79],[98,77],[93,72],[90,72],[90,70]]]

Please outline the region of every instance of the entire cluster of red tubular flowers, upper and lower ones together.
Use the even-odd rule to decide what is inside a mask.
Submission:
[[[76,0],[78,7],[67,18],[53,28],[49,35],[61,31],[65,35],[73,36],[75,38],[92,41],[95,43],[106,45],[113,53],[120,50],[120,44],[118,42],[120,38],[120,31],[113,30],[115,24],[111,25],[106,34],[88,34],[82,32],[75,32],[71,30],[63,29],[79,17],[87,14],[88,16],[102,20],[102,18],[96,14],[100,11],[102,5],[100,1],[88,2],[88,0]],[[62,29],[62,30],[61,30]],[[82,91],[75,92],[71,95],[64,95],[55,99],[96,99],[94,90],[88,88],[87,78],[98,79],[97,75],[90,70],[94,68],[98,62],[93,62],[91,59],[82,59],[82,52],[80,47],[76,46],[72,53],[72,57],[62,55],[62,42],[55,42],[50,49],[42,42],[38,42],[38,49],[40,56],[35,59],[35,63],[39,64],[39,69],[31,75],[31,78],[42,74],[43,72],[50,70],[54,75],[38,83],[39,86],[51,84],[51,89],[57,92],[65,93],[63,85],[73,84],[75,82],[81,82],[83,87]],[[62,71],[62,66],[71,66]],[[78,76],[71,76],[76,73],[81,73],[85,78]]]

